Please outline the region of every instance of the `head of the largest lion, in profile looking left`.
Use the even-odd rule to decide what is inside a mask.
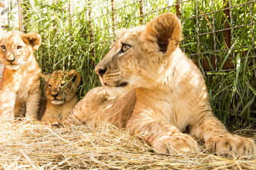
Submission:
[[[152,88],[166,78],[161,75],[169,70],[171,54],[182,40],[181,23],[170,15],[159,16],[145,26],[119,30],[117,41],[95,67],[110,94]]]

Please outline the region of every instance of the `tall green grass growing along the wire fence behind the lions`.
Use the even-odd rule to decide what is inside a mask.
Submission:
[[[17,27],[38,32],[35,55],[43,72],[77,69],[80,98],[100,81],[94,67],[119,28],[141,26],[173,12],[181,18],[181,48],[203,72],[213,113],[232,130],[256,127],[256,1],[252,0],[23,0]],[[13,3],[14,5],[15,3]]]

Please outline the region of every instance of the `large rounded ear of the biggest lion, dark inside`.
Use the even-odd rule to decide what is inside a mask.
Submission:
[[[146,23],[147,39],[153,36],[159,45],[159,50],[170,55],[182,40],[181,21],[174,13],[164,13]]]

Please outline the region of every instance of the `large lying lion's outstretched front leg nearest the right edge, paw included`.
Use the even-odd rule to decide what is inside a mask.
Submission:
[[[204,140],[209,152],[229,157],[233,154],[255,157],[255,142],[250,138],[231,134],[213,115],[203,118],[201,124],[191,125],[190,133]]]

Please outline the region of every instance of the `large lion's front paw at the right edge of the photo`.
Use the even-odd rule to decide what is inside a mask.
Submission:
[[[255,157],[255,142],[247,137],[232,134],[213,135],[206,140],[206,148],[218,155],[235,155]]]

